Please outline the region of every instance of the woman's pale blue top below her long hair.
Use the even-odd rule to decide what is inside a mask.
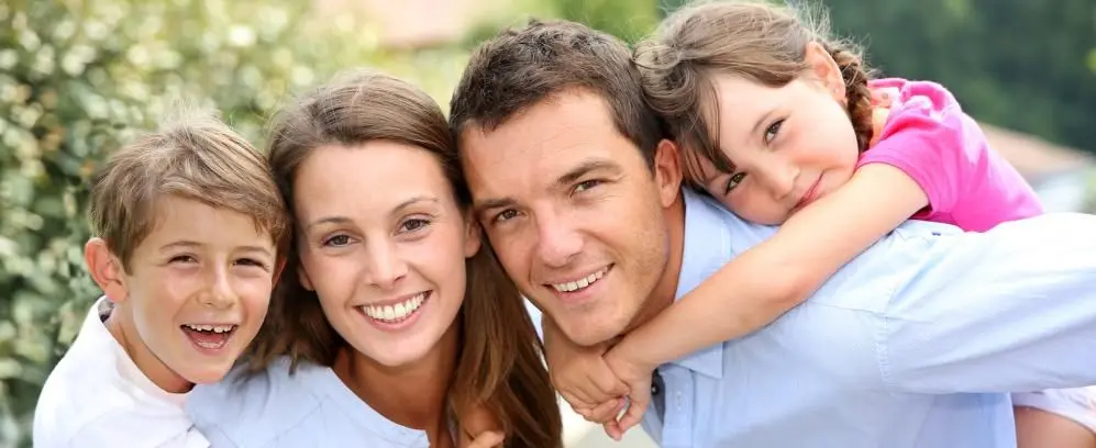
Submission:
[[[385,418],[330,368],[280,358],[257,376],[234,370],[199,385],[187,411],[213,448],[429,448],[427,433]]]

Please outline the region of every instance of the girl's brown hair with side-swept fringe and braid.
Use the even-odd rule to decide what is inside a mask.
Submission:
[[[675,12],[634,54],[649,104],[685,147],[690,177],[697,156],[722,171],[730,160],[719,150],[719,105],[713,74],[729,74],[783,87],[808,69],[807,44],[820,44],[841,69],[849,116],[860,150],[872,139],[871,71],[851,42],[829,36],[821,7],[798,9],[766,2],[720,1]]]

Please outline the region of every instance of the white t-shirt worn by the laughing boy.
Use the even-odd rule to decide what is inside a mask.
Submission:
[[[137,369],[103,324],[99,299],[49,373],[34,410],[35,448],[207,448],[187,394],[165,392]]]

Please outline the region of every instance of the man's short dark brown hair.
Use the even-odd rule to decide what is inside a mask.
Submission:
[[[649,164],[666,134],[643,99],[631,52],[620,40],[567,21],[532,20],[499,32],[473,53],[450,102],[450,127],[492,131],[567,89],[586,89],[609,107],[617,131]]]

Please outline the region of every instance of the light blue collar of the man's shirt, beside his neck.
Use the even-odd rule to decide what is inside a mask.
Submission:
[[[685,197],[685,243],[682,270],[677,278],[674,301],[691,291],[733,258],[731,253],[730,213],[710,198],[687,188]],[[716,344],[694,351],[673,362],[705,376],[723,378],[723,345]]]

